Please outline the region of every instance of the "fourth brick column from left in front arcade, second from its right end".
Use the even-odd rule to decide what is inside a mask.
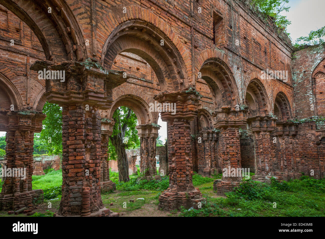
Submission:
[[[272,177],[273,157],[272,157],[272,137],[275,130],[276,119],[270,115],[260,115],[247,119],[248,133],[253,135],[255,175],[258,180],[265,180]]]

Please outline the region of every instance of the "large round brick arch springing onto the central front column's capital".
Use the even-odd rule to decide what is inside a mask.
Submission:
[[[127,14],[123,18],[117,16],[118,14],[116,12],[119,10],[122,12],[123,10],[122,7],[118,7],[119,10],[109,12],[109,14],[100,19],[98,28],[102,34],[98,38],[98,48],[101,49],[98,50],[98,54],[101,56],[101,64],[103,66],[107,65],[110,68],[112,61],[116,57],[116,53],[109,53],[108,55],[107,52],[111,49],[116,39],[123,36],[128,36],[128,38],[135,36],[138,44],[133,43],[131,46],[124,44],[123,47],[140,48],[138,52],[129,52],[137,55],[144,54],[143,56],[147,57],[145,59],[140,55],[153,69],[156,68],[154,70],[158,79],[160,78],[161,90],[187,88],[192,75],[191,64],[189,64],[190,57],[188,50],[183,46],[183,43],[174,30],[164,20],[148,9],[143,9],[135,5],[126,8]],[[112,16],[114,16],[113,19]],[[164,40],[163,47],[160,46],[161,39]],[[102,42],[105,43],[102,44]],[[121,41],[117,43],[117,47],[123,51],[120,43]],[[150,57],[146,56],[146,53],[150,53],[148,54]],[[106,60],[107,63],[104,63]],[[160,71],[159,68],[161,68]]]

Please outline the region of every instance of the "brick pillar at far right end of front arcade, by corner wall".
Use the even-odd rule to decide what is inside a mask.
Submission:
[[[276,138],[274,164],[277,165],[277,171],[274,175],[280,179],[289,180],[301,176],[297,169],[293,148],[296,134],[297,126],[293,122],[277,122],[277,128],[272,134],[272,137]]]

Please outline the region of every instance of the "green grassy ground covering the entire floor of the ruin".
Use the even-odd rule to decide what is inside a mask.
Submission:
[[[221,178],[204,178],[193,175],[193,184],[207,199],[202,208],[163,212],[157,210],[160,193],[169,186],[169,178],[161,181],[141,181],[136,183],[137,175],[127,183],[118,182],[118,174],[110,172],[110,179],[116,183],[117,190],[102,193],[105,207],[120,216],[325,216],[325,179],[302,177],[290,182],[258,183],[252,180],[243,182],[238,190],[219,196],[213,191],[213,181]],[[1,183],[0,183],[1,184]],[[38,215],[49,214],[46,210],[57,212],[60,202],[62,171],[50,171],[45,176],[33,176],[33,189],[42,188],[45,192],[43,203],[38,205]],[[131,200],[131,201],[130,201]],[[51,208],[48,208],[48,203]],[[112,205],[110,205],[112,203]],[[25,214],[24,214],[25,215]],[[0,216],[8,215],[0,212]],[[21,215],[19,215],[21,216]]]

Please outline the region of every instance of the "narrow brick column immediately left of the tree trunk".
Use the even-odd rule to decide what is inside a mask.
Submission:
[[[111,119],[101,119],[101,160],[100,160],[100,188],[101,192],[116,190],[116,184],[110,180],[110,167],[107,162],[108,142],[112,135],[115,122]]]

